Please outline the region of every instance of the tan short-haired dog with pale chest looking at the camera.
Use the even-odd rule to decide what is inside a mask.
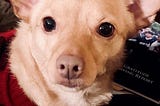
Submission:
[[[30,100],[39,106],[108,103],[126,39],[149,22],[130,1],[12,0],[22,20],[10,66]]]

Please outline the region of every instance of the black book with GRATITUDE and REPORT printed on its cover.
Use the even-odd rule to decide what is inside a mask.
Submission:
[[[153,22],[126,44],[127,57],[114,82],[134,94],[160,104],[160,24]]]

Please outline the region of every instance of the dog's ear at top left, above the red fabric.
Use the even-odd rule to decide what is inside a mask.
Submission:
[[[15,15],[24,20],[29,20],[29,15],[33,6],[38,2],[38,0],[10,0],[13,6]]]

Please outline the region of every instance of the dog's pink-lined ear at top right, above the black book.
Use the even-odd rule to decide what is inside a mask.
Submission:
[[[129,10],[134,14],[137,28],[150,24],[160,9],[160,0],[126,0]]]

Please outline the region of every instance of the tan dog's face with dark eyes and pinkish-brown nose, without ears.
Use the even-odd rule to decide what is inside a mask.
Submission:
[[[121,1],[70,2],[51,0],[35,6],[28,24],[27,46],[51,89],[54,84],[88,87],[97,76],[110,75],[121,59],[128,25],[133,24]]]

